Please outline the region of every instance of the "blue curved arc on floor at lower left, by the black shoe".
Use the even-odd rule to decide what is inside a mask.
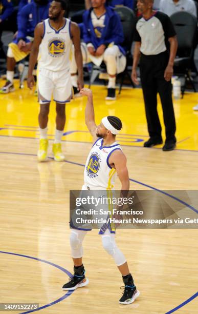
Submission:
[[[4,254],[10,254],[10,255],[15,255],[15,256],[20,256],[20,257],[25,257],[25,258],[28,258],[28,259],[32,259],[32,260],[35,260],[35,261],[38,261],[38,262],[42,262],[42,263],[46,263],[46,264],[49,264],[53,267],[56,267],[58,268],[59,270],[63,271],[64,273],[66,273],[69,277],[72,276],[72,273],[70,271],[68,271],[67,269],[57,265],[57,264],[54,264],[52,262],[49,262],[49,261],[46,261],[46,260],[41,260],[41,259],[38,259],[38,258],[35,258],[35,257],[32,257],[32,256],[28,256],[28,255],[24,255],[24,254],[17,254],[17,253],[12,253],[12,252],[5,252],[5,251],[0,251],[0,253],[4,253]],[[43,305],[43,306],[40,306],[36,309],[33,309],[33,310],[30,310],[30,311],[26,311],[26,312],[21,312],[20,314],[28,314],[28,313],[32,313],[32,312],[36,312],[36,311],[39,311],[43,308],[46,308],[46,307],[49,307],[49,306],[52,306],[66,298],[68,298],[75,290],[71,290],[71,291],[68,291],[64,296],[62,296],[61,298],[51,302],[51,303],[48,303],[46,305]]]

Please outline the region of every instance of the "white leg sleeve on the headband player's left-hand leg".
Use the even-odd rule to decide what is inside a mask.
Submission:
[[[72,257],[78,259],[82,257],[82,241],[86,234],[86,231],[79,232],[81,230],[72,230],[70,233],[70,246],[72,250]]]

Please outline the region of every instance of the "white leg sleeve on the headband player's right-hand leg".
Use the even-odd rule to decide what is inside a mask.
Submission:
[[[106,252],[111,255],[117,266],[120,266],[126,262],[124,254],[117,247],[115,240],[111,235],[103,235],[102,236],[102,245]]]

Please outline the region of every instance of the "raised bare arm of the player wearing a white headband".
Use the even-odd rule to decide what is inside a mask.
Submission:
[[[97,126],[95,123],[93,94],[91,89],[89,88],[81,89],[80,93],[82,96],[87,96],[87,103],[85,107],[85,123],[95,141],[95,139],[97,138],[96,136]]]

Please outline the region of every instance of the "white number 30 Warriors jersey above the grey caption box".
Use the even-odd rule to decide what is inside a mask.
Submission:
[[[117,142],[111,146],[102,145],[103,139],[98,139],[92,146],[84,169],[84,184],[98,189],[113,189],[117,172],[109,165],[108,160],[114,150],[122,149]]]

